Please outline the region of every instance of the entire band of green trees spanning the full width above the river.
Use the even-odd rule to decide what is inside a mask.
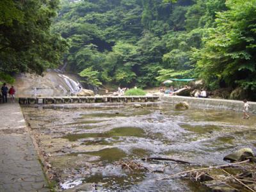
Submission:
[[[62,61],[95,85],[195,77],[256,93],[256,0],[61,0],[53,20],[57,7],[1,1],[0,71]]]

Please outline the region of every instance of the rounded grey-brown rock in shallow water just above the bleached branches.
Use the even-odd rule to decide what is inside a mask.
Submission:
[[[232,154],[228,154],[223,158],[225,161],[244,161],[246,159],[252,159],[254,157],[251,148],[241,148]]]

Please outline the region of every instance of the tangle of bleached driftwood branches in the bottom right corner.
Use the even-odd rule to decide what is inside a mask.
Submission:
[[[189,177],[189,179],[195,182],[201,182],[211,188],[212,191],[225,191],[228,188],[230,191],[242,190],[256,192],[256,165],[255,163],[248,163],[248,161],[249,160],[220,166],[210,166],[209,168],[192,169],[175,173],[162,179]],[[241,164],[244,165],[240,166]],[[216,170],[218,170],[218,172],[216,172]]]

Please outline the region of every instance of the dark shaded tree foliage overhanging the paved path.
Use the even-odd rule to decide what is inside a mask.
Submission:
[[[57,67],[67,44],[51,33],[58,0],[0,2],[0,71],[35,71]]]

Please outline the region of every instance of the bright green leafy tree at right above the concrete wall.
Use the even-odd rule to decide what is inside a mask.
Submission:
[[[197,70],[207,82],[255,90],[256,1],[227,1],[228,10],[216,15],[203,49],[195,51]]]

